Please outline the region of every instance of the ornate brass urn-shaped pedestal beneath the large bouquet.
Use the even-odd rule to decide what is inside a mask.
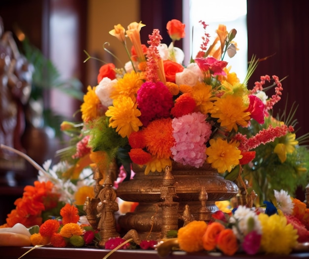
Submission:
[[[139,205],[133,213],[120,216],[118,224],[124,230],[136,229],[142,238],[163,238],[170,229],[166,222],[172,222],[175,229],[176,220],[178,228],[182,227],[186,205],[195,220],[209,221],[218,210],[216,201],[238,194],[237,185],[225,180],[208,164],[195,168],[173,163],[171,174],[145,175],[144,168],[137,165],[133,165],[133,170],[136,173],[133,180],[121,183],[117,196]]]

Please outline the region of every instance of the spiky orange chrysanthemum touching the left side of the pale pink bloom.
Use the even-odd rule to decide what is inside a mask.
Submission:
[[[147,150],[158,159],[169,158],[174,145],[172,120],[158,119],[143,129]]]

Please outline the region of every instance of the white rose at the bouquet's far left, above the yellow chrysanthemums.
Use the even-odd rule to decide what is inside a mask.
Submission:
[[[99,85],[95,89],[95,94],[100,99],[101,103],[108,107],[113,104],[113,99],[110,97],[117,79],[111,80],[108,77],[104,77]]]

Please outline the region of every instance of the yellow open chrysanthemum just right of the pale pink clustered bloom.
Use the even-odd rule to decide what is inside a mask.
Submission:
[[[209,144],[210,147],[206,149],[208,156],[206,162],[211,163],[211,166],[217,169],[219,173],[231,172],[232,168],[239,164],[242,155],[240,155],[240,150],[237,149],[237,142],[228,143],[227,140],[217,138],[210,139]]]

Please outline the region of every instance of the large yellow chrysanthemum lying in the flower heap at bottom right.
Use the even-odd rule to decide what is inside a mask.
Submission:
[[[266,253],[288,255],[297,244],[297,230],[287,224],[286,217],[273,214],[259,214],[262,226],[261,249]]]

